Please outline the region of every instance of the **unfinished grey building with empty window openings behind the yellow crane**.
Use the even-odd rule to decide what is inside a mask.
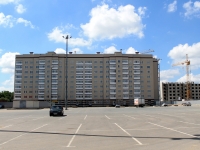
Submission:
[[[199,100],[200,99],[200,84],[190,82],[189,96],[187,92],[187,82],[162,82],[161,83],[161,100]]]

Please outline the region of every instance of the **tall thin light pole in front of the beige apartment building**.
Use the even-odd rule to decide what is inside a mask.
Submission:
[[[68,55],[68,39],[71,38],[71,36],[69,35],[66,35],[66,36],[63,36],[63,38],[66,40],[66,88],[65,88],[65,110],[67,110],[67,97],[68,97],[68,94],[67,94],[67,72],[68,72],[68,62],[67,62],[67,55]]]

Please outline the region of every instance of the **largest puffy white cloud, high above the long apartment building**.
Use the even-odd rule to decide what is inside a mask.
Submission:
[[[140,8],[143,15],[145,8]],[[144,36],[142,19],[132,5],[120,6],[118,9],[109,8],[107,4],[97,6],[90,12],[89,23],[82,24],[84,35],[90,39],[113,39],[127,35]]]

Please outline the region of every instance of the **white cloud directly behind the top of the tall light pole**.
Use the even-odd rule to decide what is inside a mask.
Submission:
[[[65,28],[63,27],[55,27],[50,33],[47,34],[48,39],[50,41],[54,41],[56,43],[65,43],[66,40],[63,38],[64,35],[70,35],[65,32]],[[90,46],[92,44],[91,41],[86,41],[82,38],[71,38],[68,40],[69,46]]]

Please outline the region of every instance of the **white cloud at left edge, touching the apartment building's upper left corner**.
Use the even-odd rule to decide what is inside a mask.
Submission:
[[[8,52],[0,57],[0,68],[2,73],[14,73],[15,55],[19,55],[19,53]]]

